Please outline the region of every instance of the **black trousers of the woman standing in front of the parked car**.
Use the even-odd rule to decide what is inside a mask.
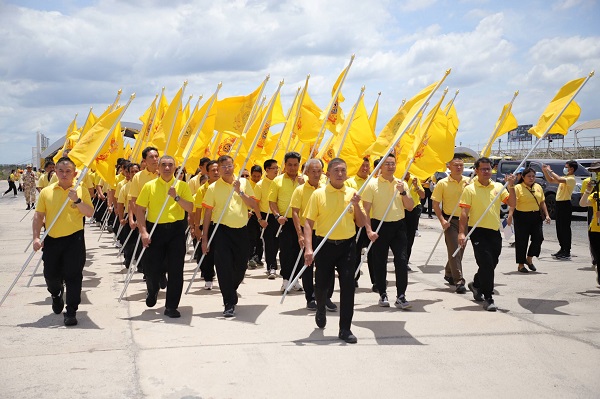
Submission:
[[[521,212],[515,209],[515,255],[518,264],[527,263],[527,257],[540,256],[544,233],[540,211]],[[531,239],[529,249],[527,244]]]

